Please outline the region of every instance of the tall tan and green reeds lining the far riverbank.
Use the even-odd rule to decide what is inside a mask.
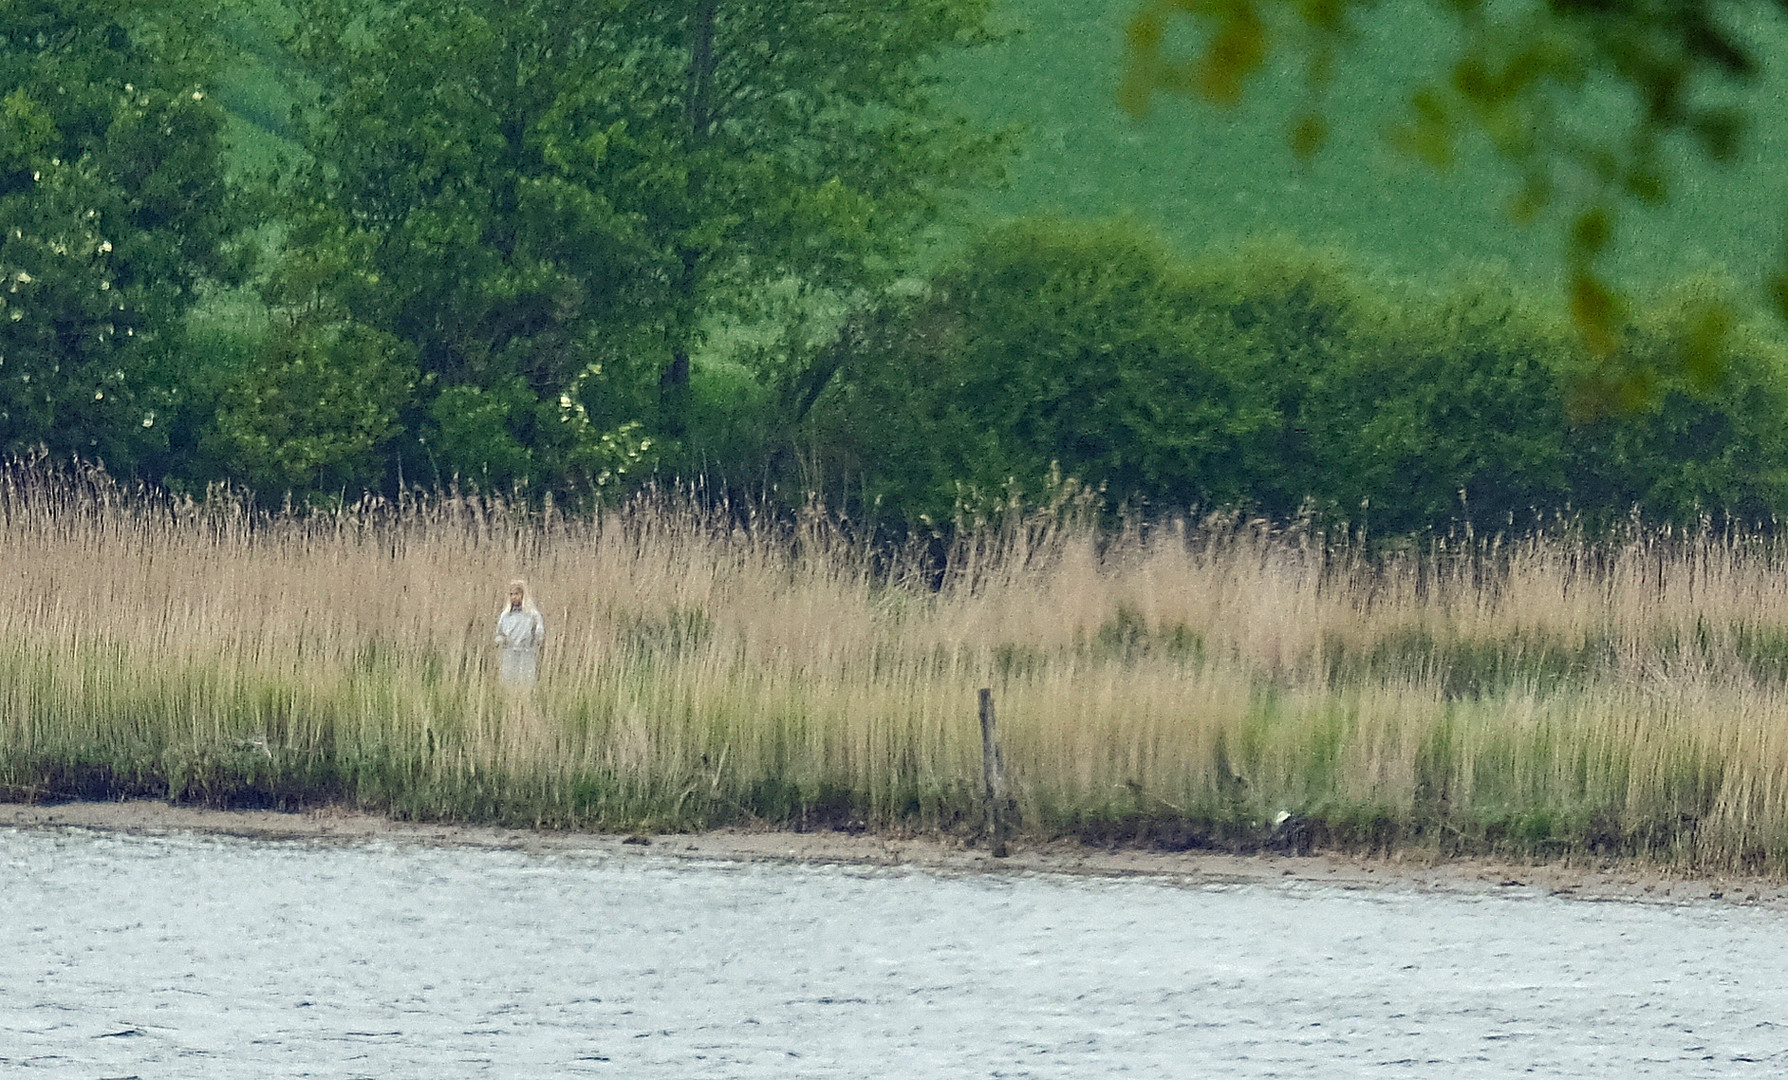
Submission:
[[[552,828],[982,823],[1168,846],[1788,869],[1788,545],[1368,551],[1212,519],[966,533],[946,569],[642,495],[257,513],[0,477],[0,797]],[[549,622],[495,679],[504,583]],[[1289,840],[1287,840],[1289,842]]]

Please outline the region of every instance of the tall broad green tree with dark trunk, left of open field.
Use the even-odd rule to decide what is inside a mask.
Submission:
[[[885,281],[994,150],[923,72],[983,0],[293,9],[322,88],[295,216],[352,261],[347,316],[417,349],[413,474],[642,460],[622,427],[681,433],[708,318]]]

